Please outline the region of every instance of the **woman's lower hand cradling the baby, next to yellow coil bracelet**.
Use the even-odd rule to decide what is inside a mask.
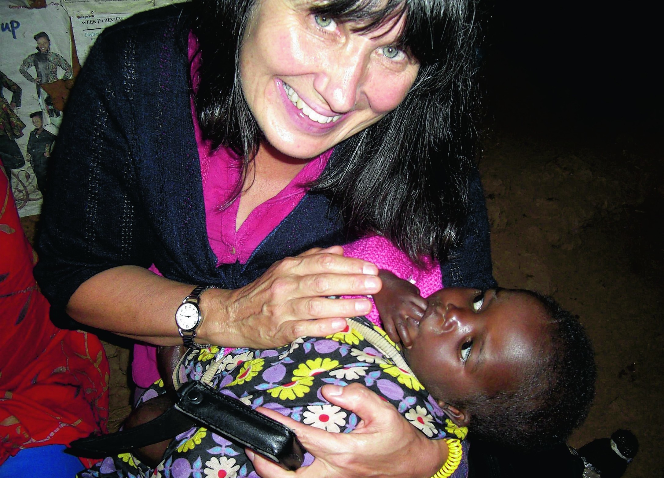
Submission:
[[[258,408],[297,434],[315,461],[297,471],[246,450],[263,478],[432,477],[448,457],[444,440],[430,440],[409,424],[392,405],[361,384],[325,385],[323,396],[355,412],[362,421],[349,434],[334,434],[295,422],[279,412]]]

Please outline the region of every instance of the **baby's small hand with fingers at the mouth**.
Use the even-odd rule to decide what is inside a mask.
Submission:
[[[392,272],[379,270],[382,289],[373,295],[382,327],[394,342],[401,342],[406,349],[412,345],[408,334],[408,317],[420,321],[428,305],[420,295],[420,289],[400,279]]]

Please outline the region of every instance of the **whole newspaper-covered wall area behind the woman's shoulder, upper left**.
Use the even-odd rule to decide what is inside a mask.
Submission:
[[[19,216],[39,214],[80,66],[104,29],[181,0],[0,0],[0,159]]]

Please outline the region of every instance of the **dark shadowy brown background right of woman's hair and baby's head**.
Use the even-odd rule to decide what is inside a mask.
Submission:
[[[495,276],[553,295],[594,342],[596,400],[570,444],[627,428],[625,477],[663,476],[661,21],[643,3],[481,9]]]

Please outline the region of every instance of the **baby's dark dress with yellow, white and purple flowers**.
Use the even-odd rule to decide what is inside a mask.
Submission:
[[[364,317],[347,319],[349,327],[324,339],[303,337],[286,347],[270,350],[210,347],[190,349],[176,369],[177,384],[203,380],[220,393],[256,408],[278,410],[293,420],[328,432],[348,433],[359,418],[332,405],[321,395],[325,384],[345,386],[361,382],[393,404],[413,426],[432,439],[446,439],[450,457],[440,477],[467,475],[467,430],[446,417],[419,380],[412,374],[398,346]],[[224,353],[226,352],[226,353]],[[162,394],[161,380],[141,400]],[[305,457],[305,465],[313,457]],[[197,427],[171,441],[155,469],[131,453],[108,457],[79,478],[257,477],[243,447],[206,428]]]

